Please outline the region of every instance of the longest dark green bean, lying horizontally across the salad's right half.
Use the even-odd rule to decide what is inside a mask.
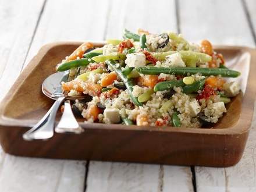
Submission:
[[[136,67],[138,73],[143,74],[179,74],[187,76],[188,74],[200,73],[203,76],[216,76],[221,75],[222,77],[238,77],[240,72],[230,69],[219,69],[219,68],[201,68],[201,67]]]

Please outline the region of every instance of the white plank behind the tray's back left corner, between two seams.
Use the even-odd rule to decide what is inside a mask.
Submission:
[[[54,41],[102,41],[108,1],[47,1],[25,65],[42,45]]]

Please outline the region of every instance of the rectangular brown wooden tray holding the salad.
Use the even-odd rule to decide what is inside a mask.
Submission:
[[[53,103],[42,94],[42,81],[55,72],[56,63],[80,44],[45,45],[20,74],[0,105],[0,143],[5,152],[25,157],[172,165],[231,166],[239,162],[251,126],[256,94],[256,51],[246,47],[216,47],[226,61],[246,56],[244,61],[251,65],[246,93],[232,99],[226,115],[213,129],[86,124],[81,121],[86,130],[82,134],[55,133],[47,141],[24,141],[22,134],[37,123]]]

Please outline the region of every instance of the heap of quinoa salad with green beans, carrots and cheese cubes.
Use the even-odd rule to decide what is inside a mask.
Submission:
[[[125,30],[103,47],[84,42],[57,65],[69,70],[62,89],[77,97],[74,115],[92,123],[204,127],[227,112],[240,93],[221,53],[208,40],[190,44],[182,35]]]

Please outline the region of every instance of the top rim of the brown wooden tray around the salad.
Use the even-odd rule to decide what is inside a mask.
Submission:
[[[105,42],[93,42],[96,47],[102,47],[102,44]],[[38,65],[38,61],[41,61],[42,58],[47,54],[49,50],[59,45],[74,45],[81,44],[82,41],[59,41],[52,42],[44,45],[39,51],[38,54],[34,56],[34,58],[29,62],[29,65],[23,70],[23,72],[19,75],[13,86],[10,88],[8,94],[5,95],[1,104],[0,104],[0,126],[6,127],[32,127],[37,123],[35,120],[19,120],[13,118],[6,118],[3,116],[3,112],[5,106],[10,102],[12,95],[15,95],[19,87],[22,85],[26,77],[29,76],[35,70],[35,67]],[[191,134],[243,134],[250,130],[251,122],[253,119],[254,112],[254,101],[256,90],[253,88],[248,88],[253,86],[253,81],[256,82],[256,76],[253,75],[253,72],[256,71],[256,66],[252,64],[252,61],[256,61],[256,49],[253,47],[243,47],[243,46],[230,46],[230,45],[216,45],[215,48],[221,49],[240,49],[243,52],[249,52],[251,55],[250,61],[250,72],[247,81],[246,93],[243,96],[243,104],[241,106],[241,115],[240,119],[236,123],[236,125],[232,127],[227,127],[226,129],[194,129],[194,128],[184,128],[180,127],[179,129],[175,127],[143,127],[143,126],[125,126],[125,125],[106,125],[103,123],[80,123],[81,127],[84,129],[101,129],[101,130],[131,130],[131,131],[159,131],[159,132],[173,132],[173,133],[191,133]],[[250,95],[254,95],[253,98]],[[245,111],[247,111],[245,113]],[[250,119],[250,120],[248,120]]]

